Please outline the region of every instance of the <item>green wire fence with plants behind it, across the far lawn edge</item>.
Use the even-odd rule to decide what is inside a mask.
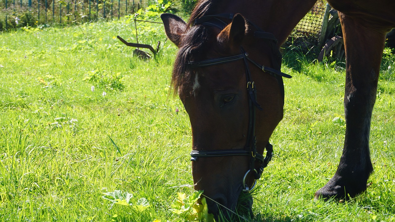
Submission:
[[[119,19],[150,0],[0,0],[0,31],[38,24],[73,24]]]

